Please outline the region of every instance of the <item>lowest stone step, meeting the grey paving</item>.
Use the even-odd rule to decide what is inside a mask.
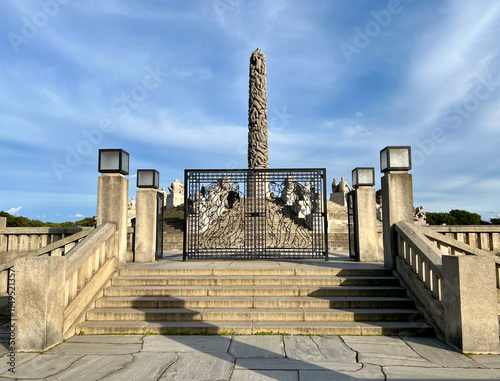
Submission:
[[[102,334],[221,334],[252,335],[284,333],[292,335],[391,335],[433,336],[424,322],[238,322],[238,321],[86,321],[76,327],[86,335]]]

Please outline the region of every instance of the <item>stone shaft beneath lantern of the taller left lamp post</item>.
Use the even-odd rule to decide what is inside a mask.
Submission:
[[[118,173],[103,173],[97,182],[97,225],[116,225],[118,267],[127,262],[127,211],[128,179]]]

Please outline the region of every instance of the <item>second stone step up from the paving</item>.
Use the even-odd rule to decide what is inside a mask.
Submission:
[[[408,321],[421,320],[414,309],[186,309],[186,308],[95,308],[87,320],[146,321]]]

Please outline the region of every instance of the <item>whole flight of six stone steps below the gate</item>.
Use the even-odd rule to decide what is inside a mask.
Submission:
[[[433,335],[381,267],[156,266],[120,270],[76,333]]]

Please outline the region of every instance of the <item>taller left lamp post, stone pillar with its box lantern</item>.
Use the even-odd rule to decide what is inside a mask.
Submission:
[[[129,154],[122,149],[100,149],[97,181],[97,225],[116,225],[115,255],[118,267],[127,258]]]

